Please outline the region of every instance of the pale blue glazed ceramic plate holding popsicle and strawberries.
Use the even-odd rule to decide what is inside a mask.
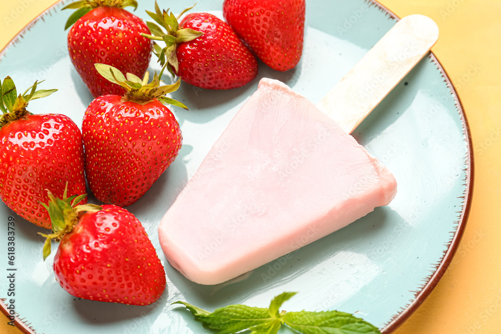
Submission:
[[[151,10],[153,4],[153,0],[141,1],[136,14],[147,19],[144,10]],[[178,13],[191,4],[169,5]],[[220,16],[221,6],[222,0],[203,0],[196,10]],[[20,88],[47,79],[42,88],[59,88],[59,92],[33,101],[30,110],[63,113],[81,124],[91,96],[67,54],[63,27],[69,13],[61,13],[62,7],[55,5],[14,38],[0,54],[0,77],[11,75]],[[183,148],[151,190],[128,207],[143,222],[165,264],[167,290],[153,305],[75,300],[55,281],[53,257],[42,260],[44,240],[37,232],[43,229],[0,204],[4,254],[8,217],[16,221],[15,305],[23,330],[205,333],[188,312],[170,303],[182,299],[209,310],[230,303],[266,306],[283,291],[299,291],[284,305],[287,310],[338,309],[363,317],[384,333],[394,330],[442,276],[457,248],[471,198],[472,153],[466,120],[432,54],[354,132],[395,175],[398,194],[390,205],[237,281],[214,286],[192,283],[173,269],[161,252],[156,228],[261,77],[282,80],[317,103],[397,20],[372,1],[311,0],[307,2],[304,54],[295,70],[280,73],[261,64],[259,78],[243,88],[208,91],[182,84],[172,94],[190,107],[188,112],[174,109],[184,135]],[[152,61],[150,70],[158,69]],[[4,256],[2,276],[6,269]],[[7,289],[7,280],[0,279],[1,297],[7,297]]]

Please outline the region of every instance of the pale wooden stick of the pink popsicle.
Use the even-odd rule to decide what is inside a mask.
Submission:
[[[317,104],[351,133],[428,54],[438,26],[424,15],[401,19]]]

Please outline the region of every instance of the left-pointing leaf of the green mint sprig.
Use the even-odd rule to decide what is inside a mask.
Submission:
[[[233,334],[244,329],[254,330],[255,328],[260,330],[256,333],[262,333],[259,325],[276,320],[270,317],[266,308],[229,305],[209,313],[186,302],[177,301],[175,303],[186,306],[196,321],[201,322],[204,328],[210,329],[216,334]]]

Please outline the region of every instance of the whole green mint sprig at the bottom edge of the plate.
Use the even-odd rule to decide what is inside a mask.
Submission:
[[[209,312],[184,301],[173,304],[184,305],[196,321],[216,334],[235,334],[242,330],[250,330],[250,334],[277,334],[283,324],[303,334],[381,334],[369,322],[345,312],[280,311],[282,304],[295,294],[284,292],[276,296],[268,308],[228,305]]]

